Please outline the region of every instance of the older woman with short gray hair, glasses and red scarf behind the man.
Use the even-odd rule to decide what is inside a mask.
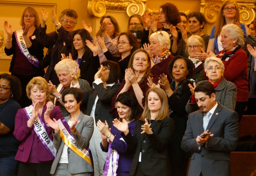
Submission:
[[[204,82],[212,83],[215,89],[216,101],[226,108],[234,110],[236,106],[236,86],[234,83],[227,81],[223,77],[225,70],[223,62],[217,57],[208,57],[204,62],[204,67],[209,79],[200,81],[197,85]],[[191,84],[188,84],[188,86],[192,93],[192,97],[188,100],[186,105],[186,111],[189,114],[199,108],[197,106],[196,99],[194,98],[194,88],[196,88],[196,83],[194,83],[194,87]]]

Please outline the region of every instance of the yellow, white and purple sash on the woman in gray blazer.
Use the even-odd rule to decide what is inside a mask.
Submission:
[[[92,165],[91,158],[90,158],[91,157],[90,149],[79,147],[65,119],[62,119],[62,120],[59,119],[57,122],[59,123],[59,128],[60,128],[60,138],[62,138],[63,142],[76,154],[81,156],[85,161],[87,161],[90,165]]]

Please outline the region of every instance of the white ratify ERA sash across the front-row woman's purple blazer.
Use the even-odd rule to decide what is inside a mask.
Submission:
[[[30,105],[26,108],[23,108],[23,110],[25,111],[28,119],[30,119],[32,115],[33,106]],[[41,122],[41,116],[39,114],[33,123],[33,129],[36,132],[42,144],[47,148],[47,150],[49,150],[50,153],[52,153],[53,157],[55,158],[57,150],[54,148],[53,142],[46,131],[46,126],[44,125],[44,123]]]

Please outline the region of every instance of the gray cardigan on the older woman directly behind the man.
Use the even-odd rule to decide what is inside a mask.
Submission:
[[[208,82],[208,80],[200,81],[197,83],[203,83]],[[227,81],[224,77],[222,77],[222,80],[218,84],[218,86],[215,89],[216,94],[216,100],[218,103],[222,104],[228,109],[231,109],[234,111],[235,105],[236,105],[236,85],[230,81]],[[186,105],[186,111],[188,114],[191,112],[194,112],[198,110],[197,103],[190,103],[191,97],[187,102]]]

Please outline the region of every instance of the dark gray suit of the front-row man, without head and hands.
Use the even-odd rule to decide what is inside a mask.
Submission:
[[[188,115],[187,129],[181,141],[181,148],[191,152],[188,176],[231,176],[230,152],[238,142],[238,113],[218,104],[207,129],[214,134],[199,150],[196,138],[203,133],[203,113],[201,110]]]

